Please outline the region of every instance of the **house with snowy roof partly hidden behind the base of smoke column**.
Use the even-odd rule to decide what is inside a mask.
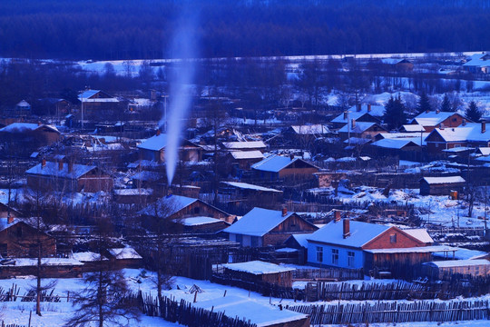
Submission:
[[[160,130],[151,138],[139,144],[138,151],[142,160],[153,161],[156,163],[165,162],[165,147],[168,143],[167,134],[162,134]],[[184,140],[179,147],[180,158],[184,162],[199,162],[202,159],[202,147]]]

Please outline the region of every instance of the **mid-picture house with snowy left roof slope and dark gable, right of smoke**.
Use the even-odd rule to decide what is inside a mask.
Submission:
[[[251,169],[264,181],[313,179],[313,173],[319,173],[317,166],[300,158],[277,154],[271,154],[259,163],[252,164]]]

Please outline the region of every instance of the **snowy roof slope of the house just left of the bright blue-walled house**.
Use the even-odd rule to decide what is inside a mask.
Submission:
[[[237,223],[223,230],[226,233],[238,233],[250,236],[263,236],[284,222],[293,213],[282,215],[282,211],[255,207],[245,214]]]

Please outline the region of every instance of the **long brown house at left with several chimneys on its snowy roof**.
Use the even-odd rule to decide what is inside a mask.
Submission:
[[[110,192],[113,177],[93,165],[46,162],[35,165],[25,172],[27,186],[34,190],[65,192]]]

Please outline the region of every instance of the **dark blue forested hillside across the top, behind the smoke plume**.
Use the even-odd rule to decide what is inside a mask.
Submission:
[[[0,55],[168,57],[184,8],[203,57],[490,48],[488,0],[26,0],[0,3]]]

